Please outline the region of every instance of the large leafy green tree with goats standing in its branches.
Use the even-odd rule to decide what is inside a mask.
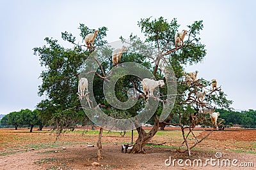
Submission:
[[[136,62],[141,64],[152,72],[156,80],[163,79],[166,81],[166,73],[168,67],[161,67],[159,64],[164,61],[165,64],[172,67],[175,76],[172,75],[173,81],[177,83],[177,93],[175,94],[175,103],[173,103],[172,110],[169,111],[168,117],[165,120],[159,120],[163,107],[168,104],[166,98],[168,95],[167,87],[159,89],[160,97],[150,97],[151,100],[159,101],[153,117],[149,120],[154,126],[150,132],[145,132],[141,124],[134,122],[134,126],[138,131],[138,139],[132,148],[132,153],[146,153],[144,146],[154,137],[159,127],[164,125],[174,124],[172,118],[178,117],[178,122],[175,125],[181,127],[184,136],[184,143],[186,143],[187,150],[190,154],[190,149],[194,145],[189,146],[187,143],[188,134],[186,135],[184,129],[189,129],[189,134],[193,134],[193,128],[198,124],[210,124],[208,117],[205,114],[196,113],[193,119],[195,110],[202,107],[213,108],[218,106],[220,108],[229,108],[232,101],[226,99],[220,87],[215,90],[207,89],[210,81],[200,78],[199,80],[188,85],[184,81],[185,66],[202,62],[206,55],[205,45],[200,41],[200,31],[203,29],[202,21],[195,21],[186,28],[180,28],[177,20],[174,18],[170,22],[163,17],[152,20],[152,18],[144,18],[138,22],[141,32],[145,35],[145,41],[142,41],[138,36],[131,36],[127,39],[120,38],[123,43],[129,44],[127,51],[122,54],[121,63]],[[187,29],[188,33],[182,46],[175,46],[174,37],[178,30]],[[86,34],[92,33],[94,29],[88,29],[86,25],[80,24],[81,39],[84,39]],[[140,114],[147,105],[144,99],[143,90],[141,88],[141,79],[126,75],[122,76],[115,84],[116,97],[125,102],[129,99],[129,95],[137,96],[138,101],[127,110],[121,110],[111,106],[106,100],[103,92],[103,83],[108,80],[108,73],[113,69],[111,61],[111,52],[113,48],[108,46],[106,38],[106,27],[98,29],[99,34],[95,38],[93,45],[95,50],[104,45],[103,50],[100,51],[104,55],[109,56],[104,59],[95,57],[95,61],[99,64],[99,69],[94,71],[95,76],[91,84],[93,87],[93,96],[97,104],[93,104],[94,108],[98,107],[104,111],[106,115],[113,118],[131,118]],[[67,128],[74,128],[77,121],[88,119],[84,114],[83,106],[77,100],[77,83],[79,81],[79,73],[83,71],[86,59],[91,55],[92,50],[88,50],[85,45],[79,43],[71,33],[63,32],[62,38],[68,41],[72,48],[65,48],[61,46],[56,39],[45,38],[47,46],[36,47],[33,50],[35,54],[40,57],[40,64],[44,66],[44,71],[41,73],[42,85],[39,87],[38,94],[40,96],[46,95],[44,99],[38,104],[37,108],[41,111],[42,118],[55,125],[55,129],[59,132]],[[150,46],[150,48],[148,48]],[[139,47],[139,48],[137,48]],[[94,50],[94,48],[93,48]],[[154,55],[150,55],[154,53]],[[163,65],[162,65],[163,66]],[[200,74],[200,71],[199,73]],[[150,78],[150,77],[148,77]],[[219,82],[218,84],[221,84]],[[131,90],[130,89],[134,89]],[[196,101],[195,92],[207,90],[204,101]],[[134,93],[134,94],[132,94]],[[90,96],[91,94],[89,94]],[[130,97],[131,97],[130,96]],[[90,98],[90,97],[89,97]],[[47,116],[45,116],[47,114]],[[220,122],[219,122],[220,123]],[[100,129],[102,133],[103,129]],[[101,134],[99,136],[99,158],[101,157]],[[198,139],[196,139],[198,143]],[[200,141],[201,142],[201,141]],[[182,152],[182,151],[180,151]]]

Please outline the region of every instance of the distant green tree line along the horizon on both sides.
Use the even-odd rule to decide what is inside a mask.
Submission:
[[[225,125],[238,124],[245,128],[256,128],[256,110],[248,111],[229,111],[223,109],[217,109],[220,112],[220,117],[225,119]],[[0,121],[0,127],[30,127],[30,132],[32,132],[33,127],[39,127],[42,131],[43,124],[50,124],[49,118],[41,117],[42,113],[39,110],[31,111],[29,109],[13,111],[8,115],[5,115]],[[186,120],[187,122],[189,121]],[[185,122],[186,122],[185,121]],[[172,123],[179,122],[179,117],[173,117]],[[88,123],[88,122],[87,122]],[[148,123],[151,123],[150,121]],[[76,121],[73,126],[77,124],[85,125],[86,122]]]

